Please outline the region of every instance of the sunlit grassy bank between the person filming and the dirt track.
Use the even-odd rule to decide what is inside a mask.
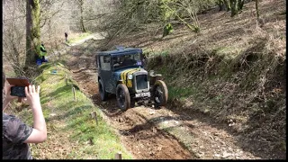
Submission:
[[[36,82],[41,88],[40,102],[49,137],[44,143],[31,145],[32,156],[38,159],[113,159],[115,153],[121,151],[122,158],[131,159],[114,130],[103,121],[100,110],[78,88],[75,88],[74,101],[72,87],[77,85],[72,80],[66,84],[67,69],[58,64],[46,64],[42,68]],[[53,69],[58,69],[58,73],[51,74]],[[97,113],[98,125],[90,116],[93,111]],[[20,113],[25,115],[25,122],[32,123],[30,110]],[[65,150],[65,153],[57,150]]]

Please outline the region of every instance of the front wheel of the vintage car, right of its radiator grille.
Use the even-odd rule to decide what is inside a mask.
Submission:
[[[166,105],[168,100],[168,89],[162,80],[157,80],[153,85],[152,97],[157,107]]]

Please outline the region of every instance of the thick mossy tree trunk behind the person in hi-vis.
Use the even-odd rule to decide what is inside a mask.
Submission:
[[[40,53],[40,4],[39,0],[26,1],[26,59],[24,68],[36,64],[35,55]]]

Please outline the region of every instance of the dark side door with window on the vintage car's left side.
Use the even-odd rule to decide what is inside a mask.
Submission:
[[[111,64],[111,56],[104,55],[100,56],[100,76],[105,88],[105,91],[108,93],[112,93],[113,89],[113,80],[112,80],[112,64]]]

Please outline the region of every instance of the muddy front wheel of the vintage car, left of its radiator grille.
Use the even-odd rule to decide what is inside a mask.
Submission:
[[[116,99],[121,111],[126,111],[130,108],[130,94],[126,85],[119,84],[116,88]]]

